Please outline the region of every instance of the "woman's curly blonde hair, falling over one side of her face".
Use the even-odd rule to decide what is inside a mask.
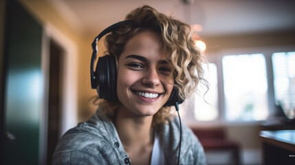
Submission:
[[[164,50],[167,52],[166,58],[173,68],[174,86],[178,89],[179,97],[184,99],[191,96],[200,82],[207,84],[201,67],[205,58],[194,45],[195,36],[190,31],[190,25],[157,12],[149,5],[136,8],[127,15],[126,20],[128,20],[127,23],[123,23],[106,36],[107,54],[118,59],[133,36],[144,30],[151,30],[162,38]],[[110,120],[114,119],[120,104],[120,101],[100,100],[98,102],[99,107]],[[157,111],[153,115],[153,126],[166,122],[171,116],[170,109],[170,107],[162,107]]]

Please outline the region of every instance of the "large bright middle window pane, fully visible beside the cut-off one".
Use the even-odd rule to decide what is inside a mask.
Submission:
[[[224,56],[222,65],[226,120],[265,120],[267,77],[263,54]]]

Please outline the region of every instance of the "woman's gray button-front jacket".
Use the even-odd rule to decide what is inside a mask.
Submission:
[[[179,122],[177,118],[163,124],[159,132],[167,164],[177,164]],[[61,137],[52,164],[130,164],[112,122],[97,111],[88,121],[79,123]],[[204,149],[197,137],[182,124],[179,164],[206,164]]]

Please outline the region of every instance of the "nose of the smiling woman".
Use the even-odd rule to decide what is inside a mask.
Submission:
[[[144,78],[142,78],[142,83],[149,87],[155,87],[160,85],[160,76],[155,68],[149,68],[144,73]]]

